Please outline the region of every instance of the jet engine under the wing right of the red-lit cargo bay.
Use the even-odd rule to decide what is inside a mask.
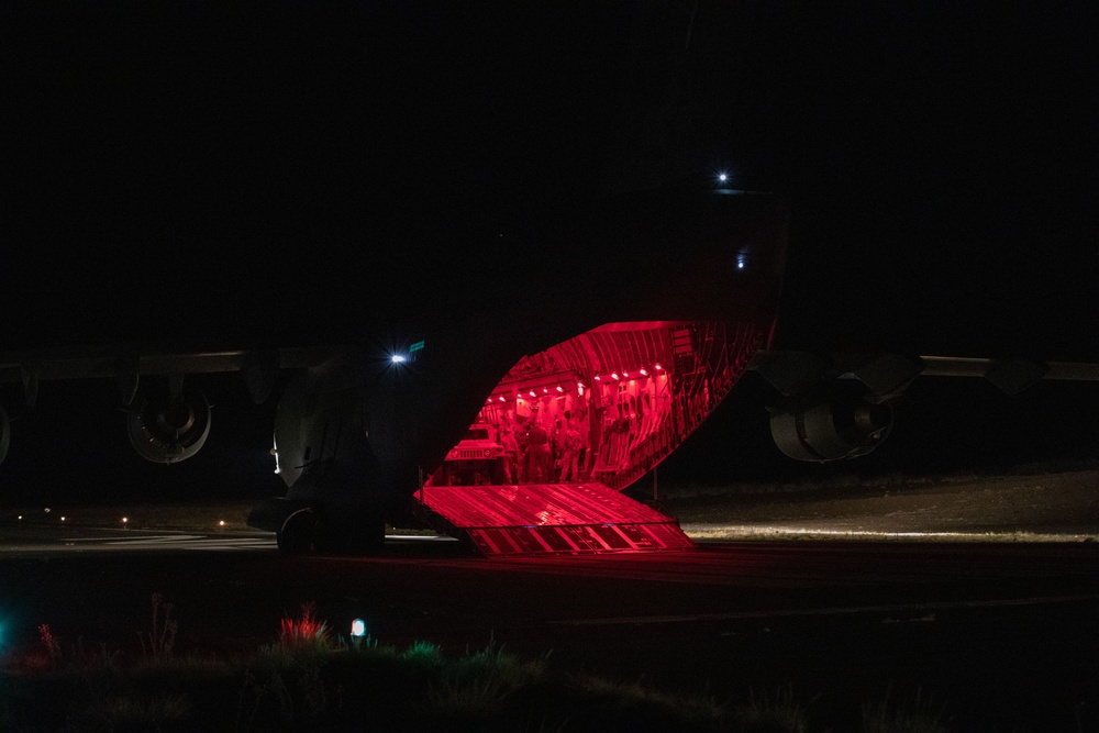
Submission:
[[[778,449],[797,460],[839,460],[865,456],[892,429],[892,408],[873,396],[831,393],[775,410],[770,434]]]

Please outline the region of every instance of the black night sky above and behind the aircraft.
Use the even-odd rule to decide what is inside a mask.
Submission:
[[[443,242],[728,167],[790,202],[780,346],[1099,358],[1095,3],[227,5],[0,10],[0,351],[338,336]],[[58,477],[129,466],[166,491],[263,460],[271,408],[226,380],[170,479],[78,387],[16,424],[9,487],[49,476],[24,453],[46,444]],[[868,465],[1095,457],[1097,392],[1074,389],[919,386]],[[800,470],[761,386],[741,391],[699,441],[743,446],[739,475]],[[702,453],[669,470],[732,473],[696,470]]]

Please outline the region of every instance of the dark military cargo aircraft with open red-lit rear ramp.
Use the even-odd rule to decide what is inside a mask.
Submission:
[[[985,377],[1008,393],[1099,378],[1086,364],[771,351],[788,212],[770,195],[715,178],[568,213],[545,222],[544,256],[524,260],[503,306],[395,314],[381,338],[331,345],[7,354],[0,379],[22,382],[27,404],[47,380],[114,380],[133,448],[168,464],[210,433],[190,375],[238,371],[256,402],[277,393],[273,453],[287,492],[256,502],[248,522],[279,547],[362,551],[381,544],[387,523],[411,522],[486,554],[545,554],[690,546],[671,518],[623,490],[748,370],[775,387],[776,445],[813,462],[874,451],[891,402],[920,375]],[[488,267],[485,256],[470,249],[464,271]],[[11,430],[0,419],[2,457]]]

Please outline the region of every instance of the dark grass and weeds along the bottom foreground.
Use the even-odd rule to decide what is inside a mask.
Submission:
[[[919,699],[842,711],[855,728],[835,728],[821,723],[821,713],[835,715],[824,701],[801,702],[790,690],[686,697],[554,670],[548,655],[522,659],[495,645],[457,656],[429,642],[398,649],[334,634],[311,606],[251,655],[177,655],[173,608],[158,595],[152,601],[141,656],[129,664],[107,648],[66,645],[45,624],[38,644],[0,657],[0,730],[947,730]]]

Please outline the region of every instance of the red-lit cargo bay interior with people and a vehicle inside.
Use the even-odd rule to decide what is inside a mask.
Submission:
[[[425,486],[621,490],[698,426],[766,337],[751,321],[610,323],[526,356]]]

